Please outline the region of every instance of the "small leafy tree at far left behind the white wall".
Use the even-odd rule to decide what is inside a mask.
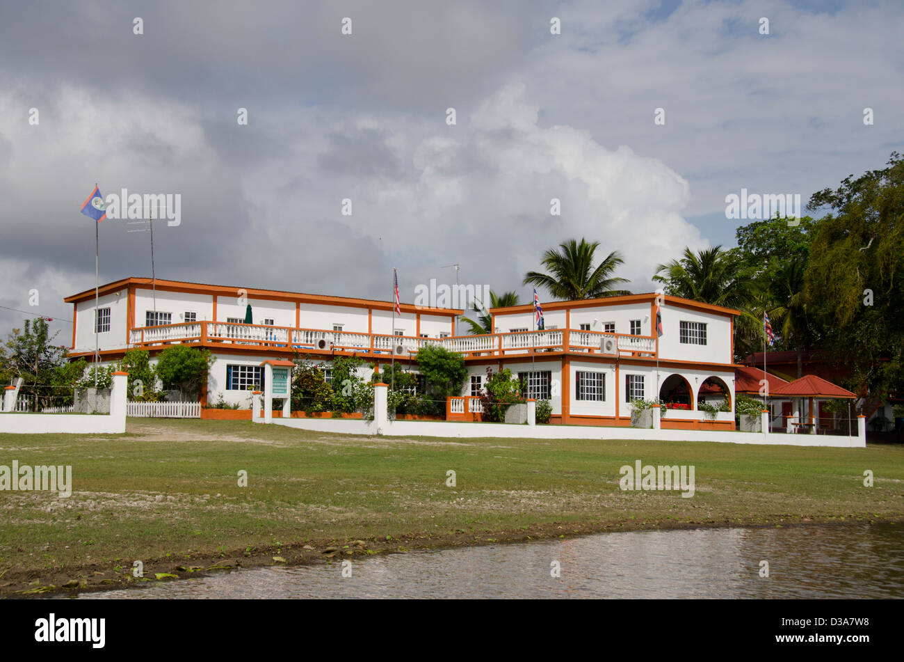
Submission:
[[[54,375],[67,363],[66,348],[53,344],[59,333],[51,336],[43,317],[26,319],[22,329],[13,329],[0,352],[7,378],[23,379],[20,393],[34,397],[36,411],[54,404]]]

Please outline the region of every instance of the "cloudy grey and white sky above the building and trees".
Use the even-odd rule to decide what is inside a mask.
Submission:
[[[161,279],[388,300],[395,268],[411,303],[458,264],[527,302],[583,237],[651,291],[735,245],[727,195],[806,203],[902,150],[901,34],[899,2],[7,3],[0,337],[71,332],[95,183],[181,196]],[[101,283],[151,275],[146,227],[100,223]]]

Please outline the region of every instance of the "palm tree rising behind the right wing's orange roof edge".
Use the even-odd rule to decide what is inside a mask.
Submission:
[[[559,244],[560,251],[550,249],[543,253],[541,264],[550,273],[528,271],[524,285],[546,288],[555,297],[566,301],[582,298],[612,297],[630,294],[627,290],[616,289],[627,279],[612,275],[616,268],[625,263],[621,253],[612,251],[594,268],[594,252],[599,241],[588,243],[581,239],[570,239]]]

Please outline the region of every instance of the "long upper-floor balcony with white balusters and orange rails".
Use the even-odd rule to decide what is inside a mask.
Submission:
[[[143,349],[185,344],[211,349],[240,346],[252,351],[287,348],[300,352],[386,356],[392,354],[413,356],[424,345],[440,345],[465,355],[466,358],[530,356],[547,352],[654,358],[658,350],[656,340],[651,336],[628,336],[574,329],[419,338],[206,321],[139,326],[132,329],[128,337],[129,346]]]

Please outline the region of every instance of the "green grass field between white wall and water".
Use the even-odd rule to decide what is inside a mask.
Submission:
[[[135,560],[155,581],[598,531],[904,517],[901,446],[385,439],[129,419],[112,437],[0,434],[0,465],[14,459],[71,465],[73,485],[70,498],[0,491],[5,595],[136,583]],[[694,496],[621,490],[619,468],[637,459],[694,466]],[[868,469],[873,487],[863,485]]]

